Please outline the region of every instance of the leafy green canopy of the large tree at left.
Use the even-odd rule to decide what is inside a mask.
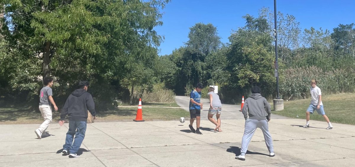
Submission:
[[[80,79],[109,85],[156,60],[163,37],[154,27],[169,1],[4,0],[10,28],[2,33],[17,48],[12,55],[42,62],[34,71],[54,75],[63,90]]]

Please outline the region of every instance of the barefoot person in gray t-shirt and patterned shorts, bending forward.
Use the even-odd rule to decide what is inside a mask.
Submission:
[[[222,103],[221,100],[219,99],[219,96],[217,93],[214,93],[214,88],[209,87],[208,88],[208,96],[209,96],[209,110],[208,110],[208,120],[211,121],[214,125],[216,125],[216,128],[214,128],[215,131],[217,132],[222,132],[221,130],[221,120],[220,120],[220,114],[222,112]],[[213,119],[213,115],[216,114],[217,121]]]

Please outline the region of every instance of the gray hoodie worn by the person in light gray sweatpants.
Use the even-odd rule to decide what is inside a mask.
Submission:
[[[267,100],[261,96],[260,93],[253,93],[249,98],[245,100],[242,108],[245,120],[268,120],[271,117],[271,106]]]

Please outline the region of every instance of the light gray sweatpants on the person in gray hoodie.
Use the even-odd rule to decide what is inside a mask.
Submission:
[[[272,138],[269,133],[269,125],[267,120],[251,120],[247,119],[245,121],[244,135],[242,139],[242,149],[240,155],[245,155],[248,150],[248,146],[251,138],[253,137],[256,128],[260,128],[263,131],[266,146],[269,152],[274,152],[274,147],[272,145]]]

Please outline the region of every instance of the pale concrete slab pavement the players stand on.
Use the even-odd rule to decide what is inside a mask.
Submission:
[[[257,130],[249,145],[246,161],[239,155],[244,120],[222,120],[223,132],[201,121],[203,135],[192,134],[188,123],[178,121],[97,122],[87,126],[78,158],[60,153],[68,125],[53,123],[52,136],[36,139],[39,125],[0,125],[0,166],[354,166],[355,126],[305,120],[273,119],[269,129],[275,157],[268,156],[262,132]]]

